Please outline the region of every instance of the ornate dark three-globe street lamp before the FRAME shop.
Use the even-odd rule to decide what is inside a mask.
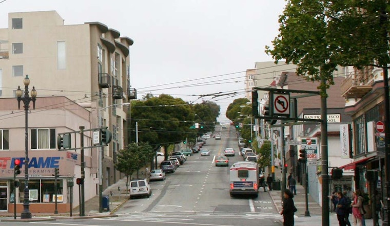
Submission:
[[[17,86],[16,89],[16,99],[17,99],[17,108],[21,109],[21,101],[23,101],[24,109],[25,109],[25,188],[24,188],[24,199],[23,199],[23,212],[21,213],[21,219],[30,219],[31,212],[29,210],[29,189],[28,189],[28,108],[30,105],[30,101],[32,101],[32,107],[35,110],[35,98],[36,98],[36,90],[35,86],[32,86],[31,97],[28,95],[28,85],[30,84],[30,79],[28,75],[23,79],[23,84],[25,85],[24,96],[21,86]]]

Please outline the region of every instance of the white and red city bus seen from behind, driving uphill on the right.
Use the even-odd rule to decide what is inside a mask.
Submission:
[[[230,167],[230,196],[259,194],[259,168],[255,162],[237,162]]]

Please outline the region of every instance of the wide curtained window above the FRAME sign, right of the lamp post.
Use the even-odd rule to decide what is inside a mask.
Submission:
[[[31,129],[31,149],[55,149],[55,129]]]

